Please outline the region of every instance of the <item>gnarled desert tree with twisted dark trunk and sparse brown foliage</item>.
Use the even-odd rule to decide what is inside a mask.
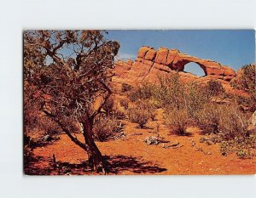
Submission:
[[[94,118],[111,94],[108,87],[119,42],[108,41],[107,31],[24,31],[24,124],[32,127],[44,113],[87,151],[95,170],[105,168],[92,139]],[[101,98],[100,105],[96,99]],[[84,142],[73,135],[82,125]]]

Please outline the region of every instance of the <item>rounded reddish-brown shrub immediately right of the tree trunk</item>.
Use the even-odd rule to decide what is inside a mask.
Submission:
[[[104,118],[100,122],[96,122],[93,127],[94,138],[98,141],[107,141],[121,129],[121,124],[115,119]]]

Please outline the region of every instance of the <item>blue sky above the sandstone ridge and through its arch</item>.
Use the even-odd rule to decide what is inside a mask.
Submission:
[[[177,48],[183,54],[216,60],[237,70],[255,62],[255,31],[108,31],[107,38],[120,43],[119,58],[135,59],[143,45]],[[190,64],[185,71],[201,76],[201,68]],[[192,68],[192,69],[191,69]]]

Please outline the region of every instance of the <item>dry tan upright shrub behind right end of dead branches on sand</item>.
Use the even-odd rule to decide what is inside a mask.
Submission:
[[[187,110],[173,110],[170,108],[165,113],[166,126],[171,129],[172,133],[177,135],[187,135],[186,128],[189,127],[189,115]]]

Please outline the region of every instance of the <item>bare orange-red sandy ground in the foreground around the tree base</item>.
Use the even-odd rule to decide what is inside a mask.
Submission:
[[[222,156],[219,145],[200,143],[202,137],[196,128],[191,129],[191,136],[177,136],[170,134],[160,122],[148,123],[147,129],[137,128],[137,124],[123,121],[125,137],[96,142],[102,155],[106,156],[112,165],[109,174],[254,174],[255,157],[253,159],[239,159],[235,154]],[[148,145],[144,139],[156,136],[155,126],[160,124],[160,137],[170,143]],[[82,136],[78,136],[79,139]],[[179,143],[177,147],[164,148],[172,143]],[[84,161],[87,155],[84,150],[74,144],[66,134],[52,144],[38,147],[33,152],[33,160],[25,167],[27,174],[95,174],[90,172]],[[58,166],[53,168],[53,154]]]

